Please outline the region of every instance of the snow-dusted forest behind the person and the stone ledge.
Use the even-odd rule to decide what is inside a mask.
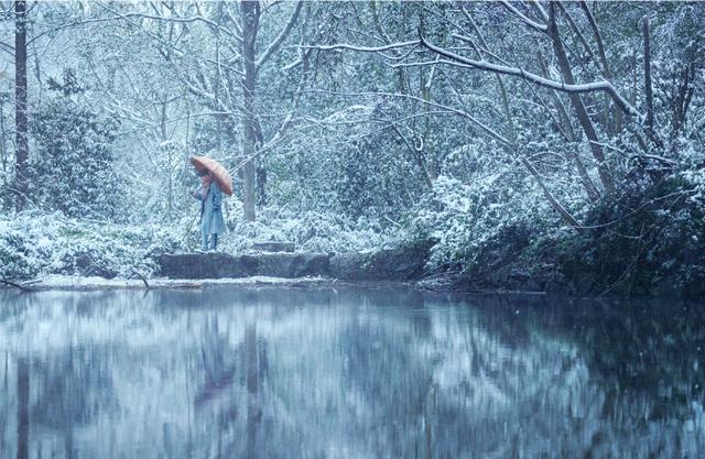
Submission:
[[[705,6],[2,1],[0,277],[429,251],[438,285],[703,295]]]

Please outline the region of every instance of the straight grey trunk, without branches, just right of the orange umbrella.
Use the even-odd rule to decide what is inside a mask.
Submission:
[[[242,97],[245,100],[245,116],[242,117],[242,155],[246,161],[242,170],[245,175],[245,219],[254,221],[256,178],[257,178],[257,118],[254,113],[254,89],[257,87],[257,58],[254,55],[254,42],[259,29],[260,6],[257,1],[242,0],[242,59],[245,65],[245,78],[242,79]]]

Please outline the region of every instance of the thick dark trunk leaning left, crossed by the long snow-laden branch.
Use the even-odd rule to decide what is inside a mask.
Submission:
[[[565,50],[563,48],[561,34],[558,33],[558,26],[555,19],[555,4],[551,2],[549,8],[547,32],[553,43],[553,51],[558,61],[558,66],[561,67],[563,79],[568,85],[574,85],[575,78],[573,77],[573,69],[571,68],[571,63],[568,62],[567,55],[565,54]],[[595,161],[597,161],[597,172],[599,174],[600,183],[605,188],[605,193],[611,195],[615,193],[615,185],[612,183],[611,175],[609,174],[609,170],[605,161],[605,154],[603,153],[603,146],[600,145],[599,139],[597,138],[597,132],[595,131],[593,121],[590,120],[590,117],[585,109],[585,105],[583,103],[581,95],[577,92],[568,92],[568,97],[571,98],[571,103],[573,105],[573,109],[577,114],[581,127],[585,132],[585,136],[590,144],[593,156],[595,157]]]

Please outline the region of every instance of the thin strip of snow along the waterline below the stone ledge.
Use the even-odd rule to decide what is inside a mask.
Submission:
[[[152,288],[197,288],[212,285],[302,285],[333,282],[326,277],[308,276],[297,278],[251,276],[238,278],[151,278],[148,281]],[[143,288],[144,283],[139,278],[105,278],[84,277],[63,274],[51,274],[29,283],[37,289],[98,289],[98,288]]]

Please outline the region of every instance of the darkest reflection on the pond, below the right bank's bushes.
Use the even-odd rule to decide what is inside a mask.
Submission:
[[[705,352],[703,308],[660,302],[521,299],[486,309],[484,324],[511,320],[521,309],[521,328],[540,330],[577,346],[594,379],[609,396],[627,394],[653,403],[654,418],[682,414],[703,393]],[[488,318],[488,316],[490,316]],[[609,409],[609,407],[607,407]]]

